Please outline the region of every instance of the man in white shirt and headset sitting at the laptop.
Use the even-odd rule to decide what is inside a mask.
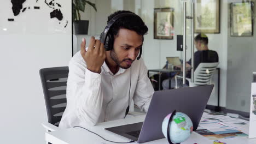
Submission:
[[[108,23],[121,13],[131,11],[116,11],[108,16]],[[114,35],[112,50],[105,51],[101,41],[94,37],[86,50],[83,39],[80,52],[69,62],[67,107],[59,127],[124,118],[132,99],[147,112],[154,89],[146,65],[137,59],[147,31],[140,17],[124,16],[110,27],[109,33]]]

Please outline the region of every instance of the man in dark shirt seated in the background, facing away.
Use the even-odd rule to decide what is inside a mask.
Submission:
[[[219,56],[216,51],[209,50],[208,47],[208,37],[203,34],[197,34],[195,37],[195,46],[197,51],[194,53],[194,70],[198,67],[200,63],[215,63],[219,62]],[[186,68],[191,68],[191,58],[186,63]],[[188,78],[191,78],[191,69],[187,71]],[[177,79],[177,85],[181,85],[182,79]],[[186,85],[188,86],[188,82],[186,82]],[[169,88],[169,79],[166,79],[162,81],[162,87],[163,89]],[[175,87],[175,80],[171,80],[171,88]]]

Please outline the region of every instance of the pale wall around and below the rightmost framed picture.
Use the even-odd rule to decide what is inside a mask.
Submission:
[[[229,0],[229,2],[242,2]],[[255,4],[255,1],[253,1]],[[255,10],[254,5],[254,10]],[[254,12],[255,15],[255,12]],[[229,17],[230,19],[230,17]],[[255,22],[255,21],[254,21]],[[253,23],[254,23],[253,22]],[[254,30],[256,25],[254,23]],[[228,29],[228,85],[226,105],[229,109],[249,112],[252,73],[256,71],[255,32],[253,37],[230,37]]]

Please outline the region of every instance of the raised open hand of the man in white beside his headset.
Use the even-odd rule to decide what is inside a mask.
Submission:
[[[86,62],[87,69],[94,73],[101,73],[101,66],[106,59],[104,44],[100,40],[95,40],[95,37],[91,37],[88,50],[85,50],[86,41],[83,38],[81,43],[81,55]]]

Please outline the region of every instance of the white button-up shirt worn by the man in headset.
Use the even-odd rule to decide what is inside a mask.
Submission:
[[[86,69],[80,51],[77,52],[69,62],[67,107],[59,127],[83,127],[124,118],[128,98],[130,104],[133,100],[139,109],[147,112],[154,93],[147,73],[142,58],[136,59],[129,69],[119,68],[115,75],[105,62],[100,74],[92,73]]]

